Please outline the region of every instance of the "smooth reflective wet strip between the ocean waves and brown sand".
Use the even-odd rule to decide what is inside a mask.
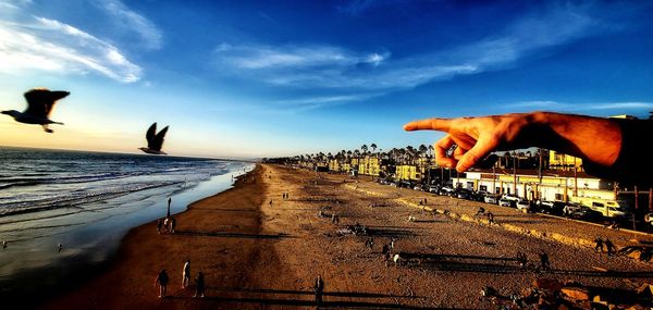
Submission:
[[[243,174],[243,169],[251,166],[243,164],[193,186],[171,188],[172,191],[135,191],[131,194],[136,195],[130,198],[132,202],[128,202],[127,196],[113,198],[110,203],[118,207],[87,212],[90,216],[100,216],[101,221],[88,220],[93,219],[88,215],[74,215],[76,218],[71,221],[83,223],[82,226],[71,225],[71,230],[62,233],[9,244],[7,249],[0,249],[0,256],[3,256],[0,268],[4,269],[0,296],[8,302],[21,302],[29,309],[77,289],[112,265],[131,230],[164,216],[167,197],[172,197],[171,213],[176,215],[198,200],[229,190],[233,187],[231,176]],[[57,243],[63,244],[60,252],[57,251]]]

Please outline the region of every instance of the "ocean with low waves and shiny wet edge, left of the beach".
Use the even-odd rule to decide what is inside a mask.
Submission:
[[[0,298],[57,293],[140,224],[229,189],[252,163],[0,147]],[[59,244],[62,245],[61,251]],[[41,294],[42,296],[42,294]]]

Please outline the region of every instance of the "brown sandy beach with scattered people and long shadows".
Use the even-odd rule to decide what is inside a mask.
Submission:
[[[283,199],[283,193],[289,198]],[[326,307],[495,308],[479,298],[483,286],[509,295],[541,276],[517,266],[517,251],[530,260],[545,251],[553,269],[546,277],[592,287],[626,292],[653,278],[650,263],[624,257],[604,261],[587,246],[414,208],[423,198],[431,209],[459,213],[473,213],[483,206],[391,188],[366,178],[259,164],[234,188],[197,201],[176,215],[175,234],[157,234],[156,223],[132,230],[106,272],[44,308],[313,307],[312,284],[318,274],[325,282]],[[318,215],[320,210],[324,216]],[[341,218],[337,225],[331,222],[333,213]],[[565,231],[564,220],[550,219],[550,224],[542,224],[540,216],[522,218],[530,215],[497,209],[496,221],[534,223],[544,231],[559,226],[559,234],[579,238],[595,234],[584,226]],[[416,220],[407,221],[408,216]],[[366,225],[368,235],[342,231],[355,223]],[[621,244],[628,240],[614,238]],[[395,239],[395,252],[421,259],[401,266],[387,264],[381,248],[391,239]],[[373,240],[371,247],[366,246],[369,240]],[[206,274],[205,298],[193,298],[193,285],[180,287],[186,259],[190,259],[193,278],[199,271]],[[171,277],[168,298],[158,298],[153,286],[160,269]]]

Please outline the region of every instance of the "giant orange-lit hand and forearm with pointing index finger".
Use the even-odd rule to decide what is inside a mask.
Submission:
[[[493,151],[528,147],[553,149],[609,166],[621,146],[621,131],[614,120],[552,112],[429,119],[410,122],[404,128],[447,133],[434,145],[435,159],[438,164],[459,172]],[[458,147],[447,157],[453,145]]]

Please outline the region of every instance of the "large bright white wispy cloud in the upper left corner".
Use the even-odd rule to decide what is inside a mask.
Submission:
[[[140,79],[141,69],[115,46],[82,29],[34,16],[17,5],[3,10],[0,17],[0,72],[95,72],[122,83]]]

